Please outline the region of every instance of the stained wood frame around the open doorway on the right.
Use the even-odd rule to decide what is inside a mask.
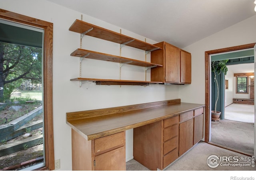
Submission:
[[[248,48],[254,48],[256,43],[251,44],[244,44],[240,46],[232,46],[229,48],[222,48],[216,50],[210,50],[205,52],[205,134],[204,134],[204,141],[209,142],[210,137],[210,73],[211,73],[211,66],[210,66],[210,55],[217,54],[222,52],[230,52],[235,50],[243,50]]]

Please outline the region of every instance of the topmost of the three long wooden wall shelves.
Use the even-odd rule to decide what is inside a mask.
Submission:
[[[148,52],[159,49],[158,46],[131,38],[129,36],[125,36],[111,30],[107,30],[105,28],[101,28],[99,26],[95,26],[93,24],[89,24],[78,19],[74,21],[74,23],[70,26],[69,30],[73,32],[78,32],[80,34],[86,34],[88,36],[93,36],[103,40],[115,42],[118,44],[131,46]]]

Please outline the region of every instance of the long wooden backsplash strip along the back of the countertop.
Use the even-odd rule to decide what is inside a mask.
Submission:
[[[122,112],[129,112],[133,110],[142,110],[146,108],[152,108],[157,106],[164,106],[167,104],[176,104],[180,103],[180,99],[174,100],[167,100],[167,101],[159,101],[159,102],[150,102],[145,104],[135,104],[130,106],[119,106],[114,108],[104,108],[98,110],[88,110],[88,111],[78,111],[78,112],[67,112],[66,113],[66,120],[78,120],[78,119],[85,119],[85,118],[92,118],[96,116],[105,116],[110,114],[122,113]]]

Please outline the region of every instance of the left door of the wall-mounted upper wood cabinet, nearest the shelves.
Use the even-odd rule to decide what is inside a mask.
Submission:
[[[165,45],[165,81],[180,82],[180,48]]]

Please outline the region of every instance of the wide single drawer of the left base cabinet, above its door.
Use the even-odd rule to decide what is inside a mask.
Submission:
[[[119,132],[94,140],[95,153],[122,146],[125,143],[125,132]]]

